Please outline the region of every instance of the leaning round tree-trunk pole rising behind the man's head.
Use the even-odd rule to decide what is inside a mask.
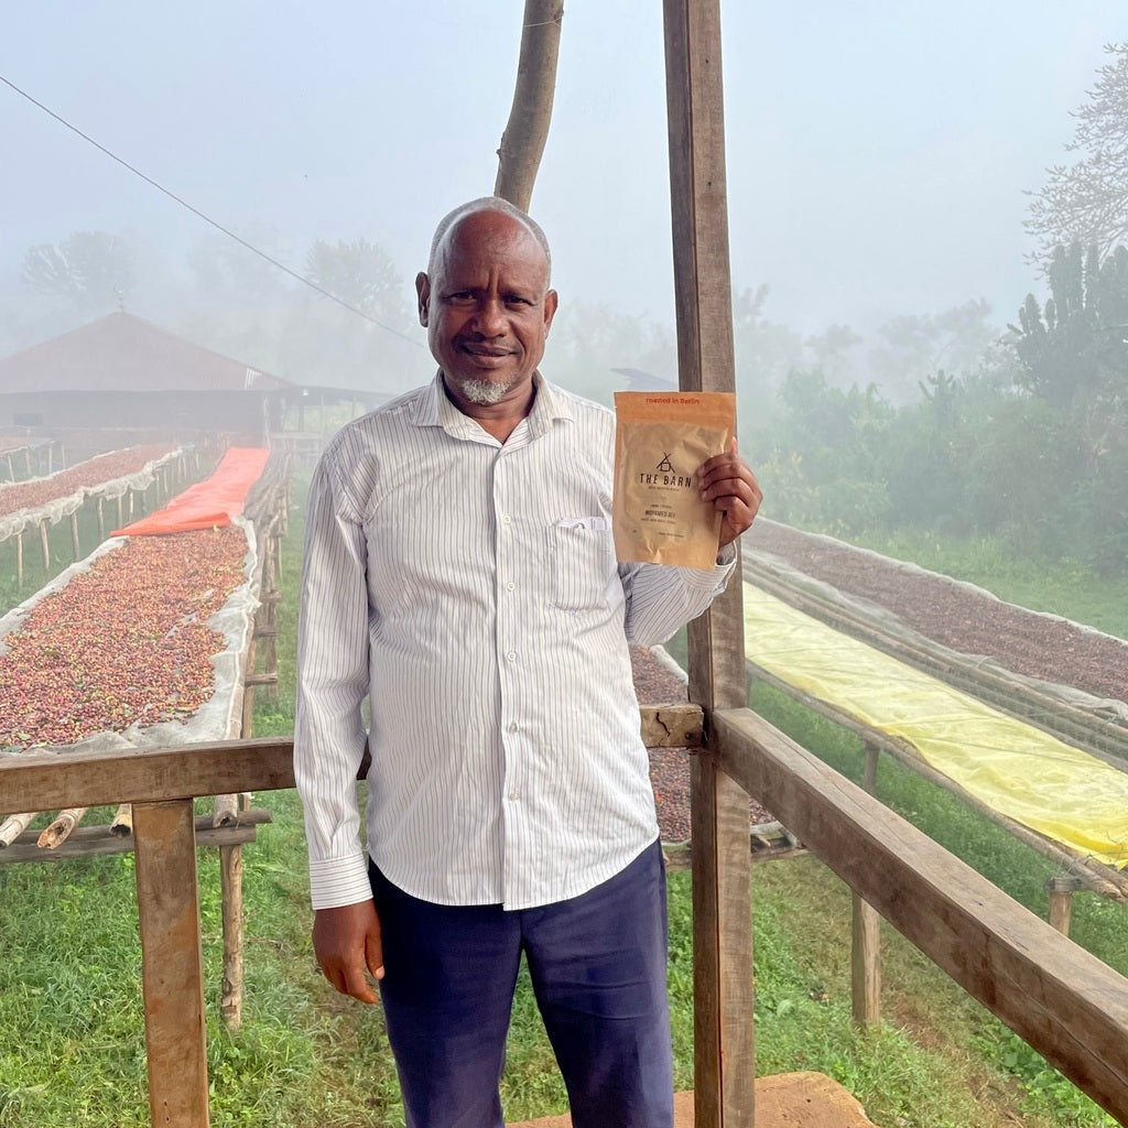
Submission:
[[[522,211],[529,210],[553,116],[563,18],[563,0],[525,0],[517,88],[497,150],[497,180],[494,184],[495,196],[502,196]]]

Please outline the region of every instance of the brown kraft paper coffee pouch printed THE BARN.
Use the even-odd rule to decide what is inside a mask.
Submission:
[[[613,529],[620,561],[712,569],[722,517],[697,470],[732,449],[731,391],[615,393]]]

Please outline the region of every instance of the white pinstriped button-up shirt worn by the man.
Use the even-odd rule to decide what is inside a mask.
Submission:
[[[628,643],[715,571],[616,564],[615,417],[539,378],[505,443],[441,376],[345,426],[314,474],[294,763],[315,908],[371,896],[368,852],[443,905],[550,904],[658,836]]]

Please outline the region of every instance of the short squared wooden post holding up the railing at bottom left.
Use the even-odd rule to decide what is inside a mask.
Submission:
[[[133,832],[150,1116],[167,1128],[208,1128],[192,800],[135,804]]]

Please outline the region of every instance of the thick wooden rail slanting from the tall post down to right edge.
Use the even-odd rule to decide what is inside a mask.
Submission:
[[[749,710],[713,714],[721,767],[1078,1089],[1128,1122],[1128,979]]]

